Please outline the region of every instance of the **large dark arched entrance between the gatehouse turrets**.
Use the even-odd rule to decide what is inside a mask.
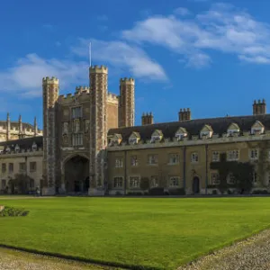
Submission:
[[[86,157],[71,157],[65,163],[67,193],[87,193],[89,188],[89,160]]]

